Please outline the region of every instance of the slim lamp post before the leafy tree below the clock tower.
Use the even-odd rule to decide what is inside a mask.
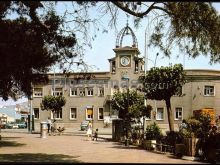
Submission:
[[[122,80],[126,80],[127,81],[127,112],[129,112],[129,79],[130,77],[128,75],[123,75],[122,76]],[[127,119],[127,115],[125,116],[125,146],[129,145],[129,140],[128,140],[128,119]]]

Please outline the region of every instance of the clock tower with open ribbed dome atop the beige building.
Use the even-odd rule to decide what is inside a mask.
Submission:
[[[132,38],[131,46],[122,45],[123,39],[127,35]],[[137,38],[128,23],[119,32],[113,51],[115,52],[115,57],[109,59],[112,78],[120,79],[124,75],[138,78],[140,73],[144,71],[144,61],[143,58],[139,57]]]

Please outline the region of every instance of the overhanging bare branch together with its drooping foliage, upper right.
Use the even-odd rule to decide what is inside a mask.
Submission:
[[[211,2],[113,2],[124,12],[144,18],[157,11],[150,45],[166,56],[177,47],[191,57],[210,55],[210,62],[220,62],[220,16]],[[148,6],[148,7],[146,7]],[[138,8],[138,9],[137,9]]]

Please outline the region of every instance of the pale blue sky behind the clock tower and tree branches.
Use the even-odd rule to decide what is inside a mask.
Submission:
[[[70,2],[66,2],[70,3]],[[214,7],[220,11],[220,2],[219,3],[213,3]],[[70,7],[70,5],[64,5],[63,2],[57,4],[57,9],[60,13],[63,12],[63,9],[66,7]],[[92,11],[91,14],[94,14],[96,16],[96,10]],[[127,17],[126,14],[120,13],[119,15],[120,21],[118,21],[117,30],[108,28],[108,33],[97,33],[97,37],[92,42],[92,49],[87,48],[84,54],[84,61],[88,63],[89,65],[92,65],[93,71],[109,71],[109,62],[108,59],[114,57],[115,53],[113,49],[115,48],[116,38],[117,38],[117,32],[119,32],[122,28],[126,26],[127,20],[129,23],[129,26],[133,29],[137,42],[138,42],[138,49],[140,51],[140,57],[144,57],[144,51],[145,51],[145,37],[148,41],[148,36],[151,33],[151,26],[149,25],[149,29],[147,25],[141,25],[138,29],[135,29],[133,26],[133,20],[131,17]],[[103,18],[102,22],[107,27],[109,19]],[[145,22],[146,23],[146,22]],[[145,30],[147,29],[147,35],[145,35]],[[124,40],[127,40],[127,42],[123,42],[123,46],[131,45],[131,36],[129,38],[124,38]],[[214,69],[219,70],[220,64],[209,64],[209,58],[204,56],[199,56],[196,59],[189,58],[188,55],[184,55],[180,53],[179,51],[176,51],[174,55],[171,56],[171,58],[163,57],[162,53],[158,51],[158,49],[155,49],[153,47],[148,48],[147,55],[148,55],[148,66],[147,68],[151,68],[154,66],[155,62],[155,56],[159,53],[159,56],[156,60],[156,66],[168,66],[169,63],[175,64],[175,63],[182,63],[184,65],[185,69]],[[180,57],[176,58],[176,55],[179,54]],[[9,99],[8,101],[3,101],[0,99],[0,105],[12,105],[27,101],[26,98],[19,99],[17,102],[14,102],[13,100]]]

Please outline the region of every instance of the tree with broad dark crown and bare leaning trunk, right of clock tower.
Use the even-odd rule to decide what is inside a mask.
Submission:
[[[143,83],[145,99],[165,100],[170,131],[174,131],[174,118],[171,109],[171,97],[182,95],[185,84],[185,72],[181,64],[168,67],[153,67],[145,76],[140,77]]]

